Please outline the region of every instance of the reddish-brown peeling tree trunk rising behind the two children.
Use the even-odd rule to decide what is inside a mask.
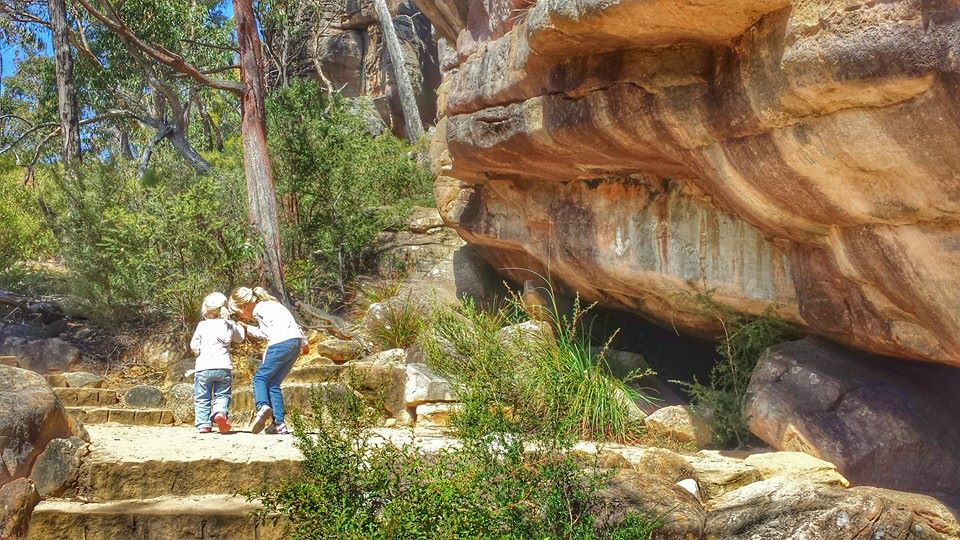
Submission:
[[[243,169],[247,178],[250,218],[263,239],[263,263],[268,278],[281,299],[287,301],[283,284],[283,256],[273,170],[267,153],[267,124],[264,110],[266,84],[263,80],[260,36],[252,0],[233,0],[240,48],[240,135],[243,140]]]

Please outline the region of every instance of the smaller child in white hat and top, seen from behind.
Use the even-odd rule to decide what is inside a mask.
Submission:
[[[227,297],[218,292],[203,299],[200,314],[204,320],[197,324],[190,340],[190,349],[197,355],[193,399],[200,433],[210,433],[211,422],[217,424],[220,433],[229,433],[231,429],[228,416],[233,392],[230,344],[243,341],[244,330],[239,324],[227,320],[226,302]]]

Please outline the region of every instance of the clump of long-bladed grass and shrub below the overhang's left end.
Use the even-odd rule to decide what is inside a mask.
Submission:
[[[552,298],[552,291],[547,291]],[[554,315],[539,329],[504,334],[509,314],[494,314],[465,303],[458,310],[439,308],[426,333],[428,362],[458,383],[464,402],[454,422],[461,430],[513,429],[548,438],[628,441],[642,429],[631,417],[633,402],[648,399],[612,377],[605,348],[591,346],[581,325],[586,310],[579,301],[569,316]],[[557,313],[554,309],[553,313]],[[487,411],[500,411],[501,417]],[[493,425],[483,422],[493,420]]]

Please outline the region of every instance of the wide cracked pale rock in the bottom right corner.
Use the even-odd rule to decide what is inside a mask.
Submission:
[[[960,525],[936,499],[878,488],[849,490],[777,476],[712,500],[707,538],[960,538]]]

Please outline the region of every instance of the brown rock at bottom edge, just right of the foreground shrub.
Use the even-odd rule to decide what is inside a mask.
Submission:
[[[697,540],[703,535],[703,505],[687,490],[660,477],[619,470],[600,497],[607,503],[598,516],[601,526],[622,521],[628,512],[641,511],[663,520],[653,538]]]

